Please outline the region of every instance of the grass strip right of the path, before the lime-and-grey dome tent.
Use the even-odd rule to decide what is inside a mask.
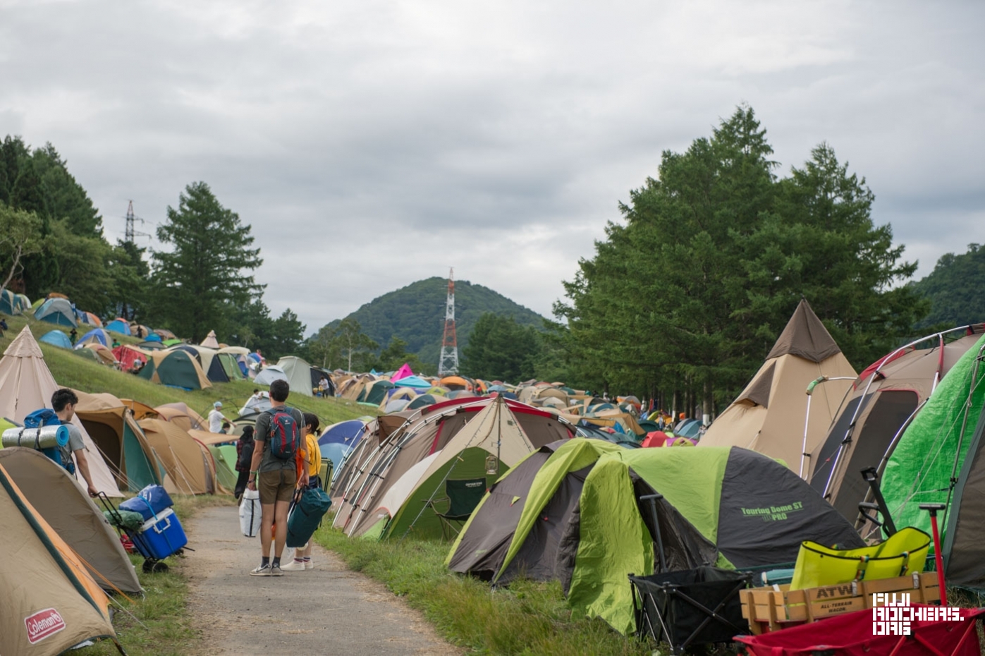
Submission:
[[[653,645],[624,638],[601,620],[574,617],[558,582],[488,583],[449,572],[448,543],[352,540],[330,528],[315,540],[404,597],[450,642],[476,654],[650,654]]]

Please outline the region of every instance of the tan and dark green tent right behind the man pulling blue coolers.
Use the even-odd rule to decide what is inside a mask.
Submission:
[[[92,435],[99,453],[119,481],[131,492],[161,484],[158,459],[137,425],[133,412],[112,394],[87,394],[76,390],[75,414]]]

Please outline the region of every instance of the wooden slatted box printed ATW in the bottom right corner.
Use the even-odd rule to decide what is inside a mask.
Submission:
[[[872,608],[874,594],[893,592],[909,593],[910,602],[914,604],[941,600],[937,572],[934,571],[807,590],[791,590],[789,585],[750,588],[740,591],[739,596],[742,615],[749,621],[753,633],[758,634]]]

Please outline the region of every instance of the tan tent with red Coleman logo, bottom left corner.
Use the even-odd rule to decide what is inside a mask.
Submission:
[[[109,599],[0,464],[0,653],[54,656],[116,634]]]

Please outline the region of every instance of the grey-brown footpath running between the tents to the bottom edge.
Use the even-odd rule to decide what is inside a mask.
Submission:
[[[315,568],[250,576],[260,560],[234,507],[204,508],[186,527],[182,571],[208,654],[460,654],[383,585],[315,545]]]

